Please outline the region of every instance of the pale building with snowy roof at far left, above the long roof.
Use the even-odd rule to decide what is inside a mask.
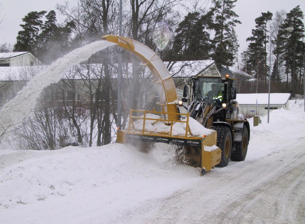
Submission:
[[[41,63],[30,52],[0,53],[0,66],[33,66]]]

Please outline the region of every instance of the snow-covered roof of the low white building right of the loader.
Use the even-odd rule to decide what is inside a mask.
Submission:
[[[291,96],[290,93],[271,93],[270,104],[284,105],[287,103],[290,96]],[[258,105],[267,105],[268,94],[267,93],[236,94],[236,101],[240,105],[256,105],[256,100]]]

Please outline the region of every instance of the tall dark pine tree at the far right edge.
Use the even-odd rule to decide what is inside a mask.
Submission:
[[[293,8],[289,13],[286,14],[286,19],[282,24],[281,28],[293,27],[292,32],[287,33],[285,30],[278,32],[279,41],[283,42],[283,52],[285,52],[285,63],[287,70],[286,84],[288,85],[288,73],[291,72],[291,87],[292,93],[296,92],[297,82],[297,61],[298,57],[303,57],[302,52],[302,38],[304,37],[304,24],[302,20],[304,15],[300,9],[300,5]]]

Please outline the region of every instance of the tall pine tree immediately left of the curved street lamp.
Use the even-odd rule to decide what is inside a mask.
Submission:
[[[262,12],[255,19],[256,29],[252,30],[252,36],[247,38],[249,44],[249,61],[252,63],[253,73],[265,86],[267,85],[267,23],[272,19],[271,12]]]

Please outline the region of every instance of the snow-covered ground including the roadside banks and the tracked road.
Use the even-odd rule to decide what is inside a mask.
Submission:
[[[199,176],[164,144],[0,150],[0,223],[305,223],[301,101],[251,128],[247,158]]]

